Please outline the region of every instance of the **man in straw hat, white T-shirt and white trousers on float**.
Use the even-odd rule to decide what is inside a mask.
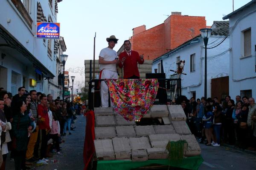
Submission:
[[[102,49],[99,53],[99,79],[117,79],[116,64],[119,63],[119,60],[113,48],[118,39],[111,35],[106,40],[108,41],[108,47]],[[101,102],[102,107],[108,107],[108,85],[104,81],[101,82]]]

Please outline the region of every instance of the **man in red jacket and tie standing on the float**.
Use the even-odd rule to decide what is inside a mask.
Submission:
[[[144,63],[143,55],[131,50],[131,42],[129,40],[125,40],[124,46],[125,51],[119,55],[119,67],[124,68],[123,77],[125,79],[140,78],[137,63]]]

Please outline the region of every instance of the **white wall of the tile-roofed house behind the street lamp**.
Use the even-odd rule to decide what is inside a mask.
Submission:
[[[211,36],[209,38],[208,44],[214,42],[215,40],[224,39],[224,36]],[[168,58],[163,58],[163,68],[166,73],[166,78],[170,78],[170,75],[174,72],[169,70],[176,70],[176,58],[180,56],[180,60],[185,60],[184,73],[187,75],[181,75],[180,78],[182,86],[182,95],[187,96],[188,98],[192,97],[192,92],[196,92],[196,97],[201,98],[204,96],[204,42],[201,37],[199,38],[200,42],[192,43],[188,46],[183,47],[177,52],[169,55]],[[215,43],[212,43],[212,45]],[[211,45],[209,45],[211,46]],[[213,49],[207,49],[207,56],[211,60],[207,60],[207,97],[211,97],[211,78],[215,78],[220,73],[229,72],[229,39],[224,40],[221,45]],[[218,56],[222,52],[227,51],[226,54]],[[195,71],[190,72],[190,55],[195,53]],[[160,61],[154,62],[152,64],[152,72],[157,68],[157,64]],[[175,77],[176,78],[176,77]]]

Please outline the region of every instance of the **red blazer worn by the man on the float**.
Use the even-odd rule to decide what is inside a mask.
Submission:
[[[122,58],[125,57],[125,62],[122,65]],[[124,78],[129,78],[133,75],[136,75],[137,77],[140,77],[139,69],[137,66],[137,63],[143,64],[144,59],[140,60],[140,55],[136,51],[131,50],[131,56],[127,54],[127,52],[122,52],[119,55],[119,67],[124,67]]]

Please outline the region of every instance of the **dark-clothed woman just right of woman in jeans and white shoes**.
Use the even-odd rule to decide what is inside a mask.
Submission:
[[[233,109],[235,108],[235,102],[230,99],[227,102],[225,116],[225,124],[224,124],[224,140],[228,142],[228,144],[235,144],[235,128],[233,125]]]

